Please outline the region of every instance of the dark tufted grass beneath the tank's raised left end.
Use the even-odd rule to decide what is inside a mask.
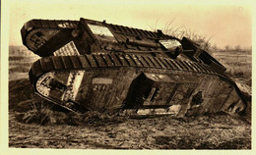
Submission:
[[[85,114],[68,112],[67,110],[56,110],[53,104],[32,104],[31,110],[20,113],[16,119],[26,124],[37,125],[69,125],[69,126],[108,126],[123,123],[126,118],[107,113],[89,111]]]

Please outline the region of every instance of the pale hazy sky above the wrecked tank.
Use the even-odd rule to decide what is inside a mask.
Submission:
[[[32,19],[79,20],[81,17],[143,29],[160,29],[171,23],[171,27],[184,26],[199,35],[211,37],[212,44],[222,48],[225,45],[250,47],[252,44],[252,13],[250,5],[246,3],[198,5],[164,3],[160,0],[132,0],[129,3],[110,0],[108,3],[63,1],[49,0],[47,4],[28,0],[10,3],[10,45],[22,45],[20,29]]]

